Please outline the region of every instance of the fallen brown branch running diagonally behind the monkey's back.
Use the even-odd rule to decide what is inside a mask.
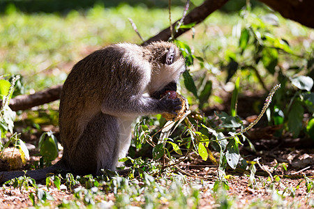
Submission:
[[[202,22],[206,17],[208,17],[215,10],[221,8],[227,1],[229,0],[207,0],[202,3],[201,6],[194,8],[193,10],[186,15],[184,18],[183,24],[190,24],[195,22],[196,24]],[[177,20],[177,22],[180,20]],[[177,24],[174,22],[173,26]],[[179,37],[181,34],[185,33],[189,29],[180,29],[177,33],[174,34],[174,38]],[[158,40],[168,40],[171,37],[170,35],[170,27],[164,29],[156,36],[150,38],[149,40],[143,42],[142,45],[147,45],[149,42],[154,42]],[[51,88],[47,88],[43,91],[38,91],[31,95],[19,95],[10,100],[9,106],[12,110],[24,110],[29,109],[31,107],[36,107],[40,104],[46,104],[48,102],[53,102],[55,100],[59,100],[60,93],[62,90],[62,84],[58,86],[53,86]],[[0,104],[2,101],[0,101]]]

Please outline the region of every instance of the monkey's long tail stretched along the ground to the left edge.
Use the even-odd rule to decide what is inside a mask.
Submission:
[[[33,171],[2,171],[0,172],[0,185],[5,183],[7,180],[12,178],[17,178],[20,176],[29,176],[35,180],[43,180],[46,178],[47,173],[54,173],[58,169],[68,171],[68,167],[63,160],[59,160],[56,164],[52,165],[51,167],[47,167],[44,169],[38,169]]]

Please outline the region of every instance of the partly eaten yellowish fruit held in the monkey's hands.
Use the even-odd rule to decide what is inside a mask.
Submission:
[[[165,91],[165,93],[163,93],[161,97],[164,97],[167,94],[169,94],[168,98],[172,100],[176,98],[180,99],[180,102],[182,103],[181,109],[176,110],[177,116],[174,114],[167,113],[167,112],[162,113],[161,116],[163,116],[163,118],[165,118],[167,121],[179,121],[181,118],[184,117],[184,114],[188,110],[188,100],[186,100],[186,98],[184,98],[182,95],[180,95],[176,91]]]

